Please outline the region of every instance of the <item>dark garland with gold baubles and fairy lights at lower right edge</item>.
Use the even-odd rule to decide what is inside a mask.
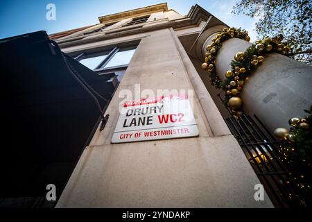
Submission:
[[[302,119],[293,117],[288,123],[291,128],[277,128],[275,137],[281,139],[279,153],[291,171],[288,183],[293,183],[301,189],[296,198],[305,206],[312,205],[312,105],[310,110],[304,110],[308,115]],[[295,184],[294,184],[295,183]],[[288,194],[288,198],[295,198]]]

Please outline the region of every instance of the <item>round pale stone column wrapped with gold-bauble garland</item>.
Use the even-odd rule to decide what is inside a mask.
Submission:
[[[219,28],[219,31],[222,30]],[[212,37],[214,34],[198,42],[202,61]],[[231,69],[229,63],[234,60],[235,53],[245,51],[250,45],[237,38],[223,42],[216,57],[216,71],[221,79]],[[271,131],[288,128],[288,119],[303,117],[306,114],[303,110],[309,110],[312,105],[312,67],[278,53],[268,53],[264,57],[245,83],[241,94],[243,109],[250,115],[256,114]]]

